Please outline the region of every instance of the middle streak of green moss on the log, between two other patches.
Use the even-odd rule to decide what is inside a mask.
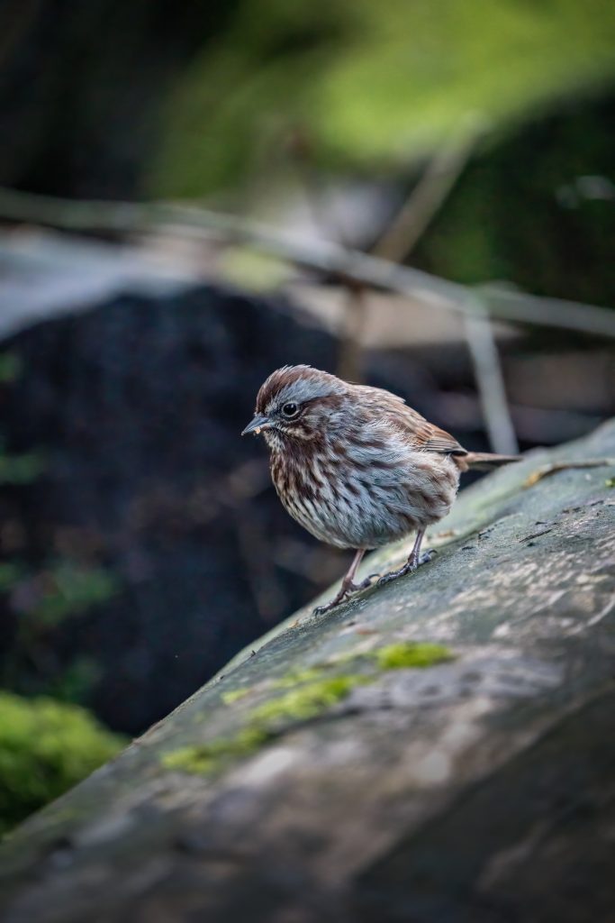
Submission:
[[[363,674],[320,679],[299,689],[291,689],[278,699],[266,701],[254,709],[252,718],[255,722],[266,724],[284,720],[305,721],[345,699],[355,686],[370,682],[373,682],[373,677]]]

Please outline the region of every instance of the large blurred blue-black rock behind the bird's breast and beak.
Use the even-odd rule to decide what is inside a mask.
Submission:
[[[20,557],[42,567],[52,549],[118,581],[50,635],[41,681],[94,659],[96,711],[135,732],[313,595],[274,563],[286,538],[309,538],[279,506],[264,446],[240,433],[274,367],[332,367],[335,348],[284,306],[206,287],[117,298],[6,342],[24,367],[3,393],[6,449],[45,460],[3,489],[5,521],[27,524]]]

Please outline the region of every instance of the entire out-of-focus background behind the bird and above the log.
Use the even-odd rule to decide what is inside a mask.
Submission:
[[[0,829],[346,568],[239,438],[274,368],[613,414],[613,125],[611,0],[4,0]]]

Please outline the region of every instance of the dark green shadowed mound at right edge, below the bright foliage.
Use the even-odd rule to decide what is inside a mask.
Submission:
[[[467,284],[506,279],[612,306],[615,209],[592,198],[591,181],[615,180],[613,118],[612,95],[579,100],[481,151],[420,240],[417,263]]]

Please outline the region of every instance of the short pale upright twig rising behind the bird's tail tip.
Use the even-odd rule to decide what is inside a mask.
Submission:
[[[464,318],[467,346],[474,366],[491,449],[503,455],[516,455],[519,444],[506,400],[502,364],[491,319],[478,294],[470,294],[468,297],[474,301],[474,313]]]

